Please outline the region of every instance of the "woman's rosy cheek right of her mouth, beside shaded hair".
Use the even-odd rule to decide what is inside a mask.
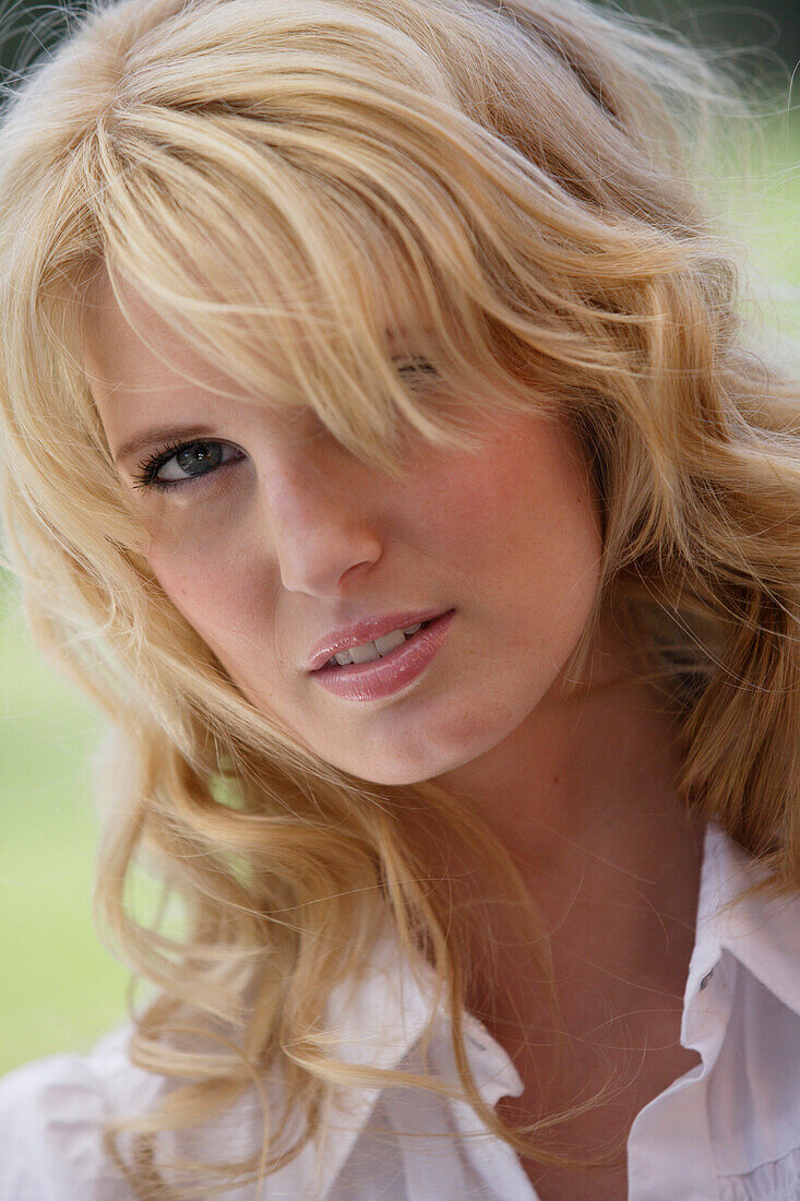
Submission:
[[[479,703],[471,693],[447,718],[461,745],[482,727],[513,725],[548,693],[591,615],[603,548],[590,473],[557,430],[512,428],[453,479],[459,486],[429,518],[477,619],[465,625],[465,650]]]

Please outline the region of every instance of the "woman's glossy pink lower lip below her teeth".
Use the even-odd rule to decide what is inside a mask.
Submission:
[[[418,629],[402,646],[372,663],[348,663],[346,667],[324,667],[311,673],[311,679],[328,692],[346,700],[378,700],[392,697],[422,675],[447,638],[455,610],[442,614],[430,626]]]

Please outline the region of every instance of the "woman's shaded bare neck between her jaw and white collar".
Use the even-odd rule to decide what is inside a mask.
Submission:
[[[679,794],[674,718],[626,675],[619,639],[602,657],[601,687],[547,698],[506,743],[437,783],[477,809],[518,867],[545,924],[566,1030],[605,1032],[595,1045],[610,1046],[620,1023],[638,1034],[680,1017],[704,823]],[[474,958],[470,1008],[508,1050],[547,1036],[536,948],[480,856],[448,855],[454,901],[492,936],[494,962]]]

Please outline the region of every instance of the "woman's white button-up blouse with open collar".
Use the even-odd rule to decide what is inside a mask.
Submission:
[[[681,1042],[702,1064],[635,1117],[628,1201],[800,1201],[800,896],[720,914],[752,882],[748,862],[708,825],[681,1023]],[[408,1070],[422,1068],[428,1011],[425,980],[400,964],[390,937],[376,944],[358,987],[329,1002],[332,1024],[347,1032],[345,1058]],[[519,1095],[507,1053],[471,1015],[465,1021],[484,1099]],[[0,1080],[1,1201],[131,1201],[103,1155],[100,1123],[143,1111],[165,1081],[127,1060],[130,1033],[126,1023],[88,1054],[49,1056]],[[441,1012],[426,1066],[456,1080]],[[350,1100],[324,1140],[267,1178],[263,1201],[537,1201],[515,1153],[465,1103],[411,1088],[354,1089]],[[256,1151],[258,1135],[259,1105],[247,1097],[213,1129],[165,1141],[169,1157],[233,1160]],[[256,1201],[255,1185],[225,1199]]]

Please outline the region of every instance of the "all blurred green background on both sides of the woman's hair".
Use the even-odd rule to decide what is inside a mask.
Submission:
[[[631,4],[687,35],[754,47],[771,85],[764,156],[750,198],[729,193],[733,222],[752,231],[764,321],[800,337],[800,121],[789,115],[798,56],[792,0],[760,6]],[[44,8],[0,4],[0,67],[47,42]],[[745,61],[745,60],[742,60]],[[91,919],[97,823],[90,757],[102,722],[40,658],[0,572],[0,1072],[61,1050],[86,1050],[124,1016],[127,972]]]

